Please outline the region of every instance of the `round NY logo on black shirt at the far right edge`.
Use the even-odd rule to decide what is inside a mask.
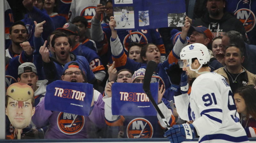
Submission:
[[[255,14],[249,9],[242,8],[237,10],[235,13],[237,19],[243,24],[246,32],[251,31],[255,26]]]

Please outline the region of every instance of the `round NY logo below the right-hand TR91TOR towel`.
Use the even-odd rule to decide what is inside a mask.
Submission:
[[[144,118],[135,118],[127,125],[127,138],[152,138],[153,126]]]

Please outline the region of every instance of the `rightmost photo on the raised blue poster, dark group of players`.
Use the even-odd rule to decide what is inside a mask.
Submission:
[[[168,13],[168,27],[182,27],[185,23],[186,12]]]

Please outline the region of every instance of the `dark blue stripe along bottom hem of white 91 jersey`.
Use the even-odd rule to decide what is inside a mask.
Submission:
[[[230,142],[243,142],[243,141],[248,141],[247,136],[240,136],[240,137],[232,137],[226,134],[212,134],[212,135],[206,135],[204,136],[200,141],[206,141],[206,140],[212,140],[212,139],[222,139],[222,140],[227,140]]]

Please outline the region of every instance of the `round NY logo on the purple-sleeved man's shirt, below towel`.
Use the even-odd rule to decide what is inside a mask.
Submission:
[[[59,130],[65,134],[73,135],[84,127],[84,116],[60,112],[57,118]]]

